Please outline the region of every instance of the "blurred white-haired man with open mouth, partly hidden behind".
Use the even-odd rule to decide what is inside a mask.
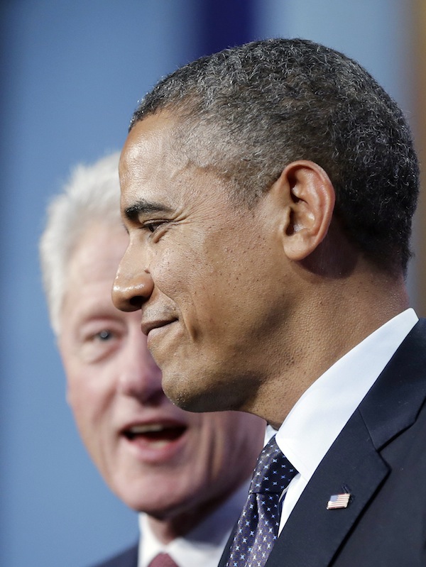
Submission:
[[[143,512],[139,545],[103,565],[216,567],[246,499],[264,422],[173,406],[138,314],[112,304],[128,241],[119,216],[118,161],[114,154],[75,170],[50,206],[40,243],[78,429],[111,490]]]

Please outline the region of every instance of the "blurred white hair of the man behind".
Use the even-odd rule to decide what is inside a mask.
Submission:
[[[48,207],[40,238],[40,265],[50,324],[57,335],[67,267],[82,234],[94,221],[111,226],[120,222],[119,155],[115,152],[92,165],[77,165]]]

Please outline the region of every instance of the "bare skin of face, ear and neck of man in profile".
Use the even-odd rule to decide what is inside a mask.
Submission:
[[[290,163],[248,207],[171,149],[174,125],[165,111],[148,116],[124,145],[130,241],[114,304],[141,309],[180,407],[241,409],[277,427],[324,370],[405,309],[403,275],[382,273],[346,241],[319,165]]]

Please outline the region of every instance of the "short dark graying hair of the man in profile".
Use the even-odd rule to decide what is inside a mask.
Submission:
[[[413,139],[395,101],[356,61],[309,40],[247,43],[162,79],[131,128],[160,111],[178,119],[180,155],[214,169],[249,203],[288,163],[321,165],[346,237],[381,268],[406,270],[419,189]]]

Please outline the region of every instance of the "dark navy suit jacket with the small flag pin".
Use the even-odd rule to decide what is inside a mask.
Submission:
[[[426,566],[425,400],[422,320],[324,456],[266,567]],[[327,510],[342,492],[348,507]]]

